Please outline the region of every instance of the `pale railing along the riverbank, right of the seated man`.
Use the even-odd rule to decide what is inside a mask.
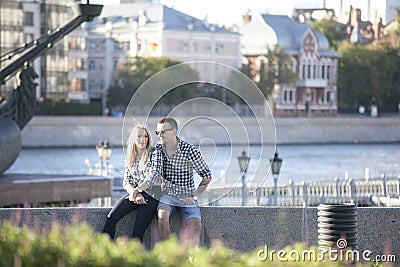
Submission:
[[[357,206],[400,206],[400,177],[327,182],[289,182],[277,186],[211,188],[203,204],[211,206],[318,206],[321,203],[354,203]],[[276,197],[276,199],[275,199]],[[207,202],[207,203],[206,203]]]

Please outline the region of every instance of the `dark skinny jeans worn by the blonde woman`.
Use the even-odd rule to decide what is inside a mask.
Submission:
[[[153,186],[154,197],[150,196],[146,192],[142,195],[147,200],[147,204],[135,204],[129,199],[125,199],[126,196],[120,198],[115,203],[113,209],[108,213],[107,220],[103,228],[103,233],[110,235],[112,239],[115,237],[115,228],[119,220],[126,214],[133,210],[138,210],[136,213],[135,224],[133,226],[132,238],[139,238],[143,243],[144,232],[150,225],[151,220],[157,211],[158,200],[160,199],[161,189],[159,186]]]

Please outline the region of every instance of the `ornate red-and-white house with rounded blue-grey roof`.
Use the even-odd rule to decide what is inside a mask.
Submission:
[[[259,72],[268,49],[279,46],[291,59],[288,68],[297,75],[293,86],[274,84],[274,115],[336,115],[340,55],[330,50],[327,38],[287,16],[262,14],[247,18],[241,29],[243,68]]]

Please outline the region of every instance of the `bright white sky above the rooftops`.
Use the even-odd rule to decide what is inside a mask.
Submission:
[[[115,5],[119,2],[119,0],[90,0],[91,4],[103,5]],[[324,2],[327,8],[335,9],[336,15],[340,14],[340,0],[160,0],[160,2],[195,18],[204,19],[207,16],[210,23],[228,26],[240,25],[242,15],[246,11],[250,11],[253,15],[269,13],[291,16],[294,8],[322,8]],[[367,3],[366,0],[343,1],[344,4],[348,4],[347,2],[359,8]],[[343,8],[347,8],[347,5]]]

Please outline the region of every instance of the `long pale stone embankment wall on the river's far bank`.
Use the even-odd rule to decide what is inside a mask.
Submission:
[[[157,125],[157,118],[149,118],[147,124],[152,130]],[[191,118],[177,118],[184,125]],[[229,128],[229,144],[242,145],[270,144],[274,142],[271,129],[261,129],[263,125],[273,125],[271,118],[259,118],[260,121],[247,117],[216,117],[213,123],[195,124],[183,138],[196,140],[212,138],[216,144],[227,144],[221,129]],[[214,123],[218,122],[218,123]],[[265,123],[264,123],[265,122]],[[242,124],[243,123],[243,124]],[[240,129],[245,126],[248,138]],[[310,143],[399,143],[400,115],[371,118],[367,116],[338,117],[293,117],[275,118],[277,144]],[[114,146],[121,146],[123,119],[115,117],[68,117],[36,116],[22,131],[23,147],[84,147],[94,146],[100,140],[107,139]],[[262,132],[262,138],[253,137]],[[264,134],[267,133],[267,134]],[[273,135],[273,134],[272,134]]]

